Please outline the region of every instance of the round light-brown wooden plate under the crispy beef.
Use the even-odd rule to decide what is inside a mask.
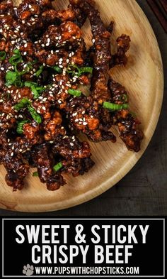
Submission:
[[[57,8],[65,8],[68,1],[57,0]],[[125,85],[130,95],[130,107],[142,121],[145,134],[142,151],[127,151],[119,137],[117,143],[91,143],[96,162],[88,174],[73,178],[67,176],[67,185],[56,192],[47,191],[38,177],[30,175],[22,191],[12,192],[4,180],[5,170],[0,166],[0,207],[22,212],[46,212],[73,207],[115,185],[137,163],[144,153],[156,128],[163,99],[163,70],[159,46],[149,21],[134,0],[96,0],[105,23],[115,21],[113,43],[122,33],[130,35],[132,43],[126,68],[115,67],[112,75]],[[88,22],[84,26],[88,45],[91,31]],[[115,133],[118,136],[117,130]]]

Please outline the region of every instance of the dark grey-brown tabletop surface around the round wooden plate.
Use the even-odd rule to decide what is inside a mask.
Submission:
[[[167,76],[167,35],[146,0],[137,0],[154,29]],[[137,165],[115,187],[96,199],[47,216],[167,215],[167,82],[154,137]],[[28,215],[0,210],[0,215]],[[30,215],[30,214],[29,214]],[[40,215],[40,214],[35,214]]]

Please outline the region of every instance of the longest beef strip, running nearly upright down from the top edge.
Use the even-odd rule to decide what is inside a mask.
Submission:
[[[75,1],[81,11],[84,11],[91,23],[91,31],[95,53],[93,55],[93,77],[91,80],[91,96],[102,104],[110,97],[108,89],[108,71],[110,69],[110,33],[100,18],[99,11],[94,7],[94,2]]]

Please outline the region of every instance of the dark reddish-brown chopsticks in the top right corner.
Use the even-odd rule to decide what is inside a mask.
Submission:
[[[161,26],[167,33],[167,1],[166,0],[146,0],[152,11],[159,19]]]

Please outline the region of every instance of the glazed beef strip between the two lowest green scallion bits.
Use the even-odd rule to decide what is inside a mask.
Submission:
[[[54,159],[52,158],[47,143],[35,146],[32,155],[35,167],[38,168],[40,181],[46,183],[48,190],[58,190],[60,186],[66,184],[62,175],[54,173]]]

